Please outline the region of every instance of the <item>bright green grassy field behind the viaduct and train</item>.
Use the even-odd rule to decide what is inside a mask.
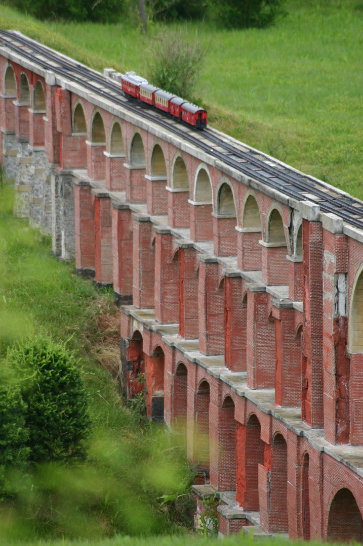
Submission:
[[[363,4],[288,0],[289,15],[264,30],[199,26],[213,46],[197,96],[215,127],[298,169],[363,198]],[[0,7],[0,26],[17,28],[101,70],[146,72],[151,42],[118,25],[39,23]],[[195,32],[197,25],[188,25]],[[146,55],[145,55],[146,51]]]

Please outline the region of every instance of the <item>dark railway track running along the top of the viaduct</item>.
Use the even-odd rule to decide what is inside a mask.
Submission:
[[[0,45],[18,55],[51,70],[68,81],[73,81],[86,90],[111,100],[128,111],[159,124],[180,138],[199,147],[204,152],[233,167],[244,175],[276,189],[298,201],[314,201],[323,212],[333,212],[347,223],[363,229],[363,202],[336,188],[326,185],[309,175],[296,173],[293,169],[274,163],[248,146],[231,143],[220,138],[211,129],[198,131],[179,123],[167,114],[155,110],[145,103],[127,97],[114,80],[69,60],[57,52],[42,46],[21,34],[0,31]]]

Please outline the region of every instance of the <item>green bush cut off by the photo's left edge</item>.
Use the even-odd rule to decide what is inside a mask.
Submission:
[[[20,389],[13,385],[0,386],[0,500],[14,494],[7,473],[22,468],[30,449],[26,446],[28,429],[25,424],[27,406]]]

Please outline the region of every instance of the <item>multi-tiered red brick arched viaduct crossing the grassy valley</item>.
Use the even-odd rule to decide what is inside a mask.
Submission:
[[[360,541],[363,230],[7,48],[0,114],[16,214],[113,285],[127,396],[145,372],[219,531]]]

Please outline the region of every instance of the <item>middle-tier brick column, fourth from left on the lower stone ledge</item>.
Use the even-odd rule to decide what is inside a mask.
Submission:
[[[205,355],[224,353],[224,288],[218,282],[218,262],[215,258],[198,256],[198,324],[199,346]]]

